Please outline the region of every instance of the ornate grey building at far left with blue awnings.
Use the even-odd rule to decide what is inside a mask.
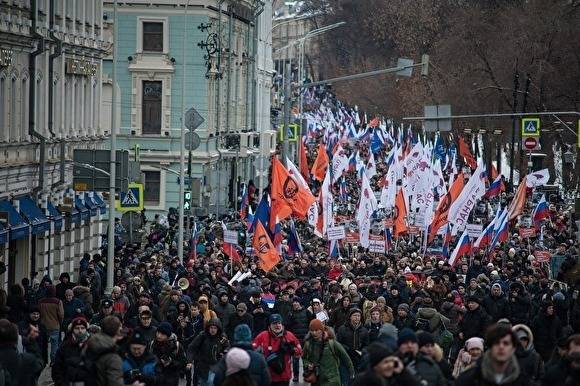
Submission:
[[[0,1],[0,282],[73,272],[97,253],[106,206],[71,189],[72,154],[99,148],[102,1]],[[73,278],[74,278],[73,273]]]

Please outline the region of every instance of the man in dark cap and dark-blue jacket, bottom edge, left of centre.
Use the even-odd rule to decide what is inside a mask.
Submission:
[[[123,378],[125,384],[141,382],[145,386],[153,386],[156,381],[155,368],[157,360],[147,351],[149,342],[139,333],[133,333],[129,339],[129,351],[123,359]]]

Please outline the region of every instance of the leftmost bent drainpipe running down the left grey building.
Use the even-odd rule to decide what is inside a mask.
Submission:
[[[31,33],[35,39],[38,39],[38,46],[30,53],[28,64],[28,73],[30,74],[30,91],[28,93],[28,134],[40,141],[40,161],[38,171],[38,186],[32,190],[33,194],[38,193],[44,188],[44,169],[46,166],[46,138],[36,131],[35,115],[36,115],[36,57],[46,51],[44,36],[36,31],[36,14],[38,13],[37,0],[31,1],[30,20],[32,21]]]

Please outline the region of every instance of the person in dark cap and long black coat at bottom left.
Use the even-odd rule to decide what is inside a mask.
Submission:
[[[55,386],[69,386],[74,382],[84,382],[90,374],[82,366],[82,351],[89,339],[88,323],[82,316],[70,323],[67,338],[58,348],[51,376]]]

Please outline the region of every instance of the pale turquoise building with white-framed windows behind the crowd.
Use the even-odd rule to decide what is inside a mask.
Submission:
[[[178,206],[182,116],[190,109],[203,118],[198,145],[185,155],[193,214],[235,207],[240,183],[255,177],[265,187],[260,171],[275,146],[271,16],[270,0],[123,1],[117,27],[114,2],[105,1],[106,35],[118,28],[117,148],[138,146],[148,216]],[[104,106],[112,59],[104,63]],[[105,107],[103,118],[110,114]]]

